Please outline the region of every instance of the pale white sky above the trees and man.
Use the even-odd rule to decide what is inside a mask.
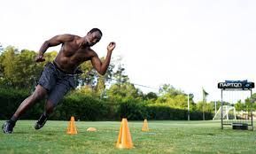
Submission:
[[[217,83],[256,81],[256,1],[253,0],[3,0],[0,43],[39,50],[54,35],[84,36],[98,27],[93,50],[121,63],[145,93],[162,84],[207,101],[221,99]],[[59,50],[50,48],[51,50]]]

